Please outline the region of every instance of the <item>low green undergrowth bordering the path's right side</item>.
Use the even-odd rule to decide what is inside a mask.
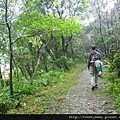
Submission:
[[[115,71],[110,72],[108,68],[105,68],[103,79],[107,85],[106,92],[114,99],[117,112],[120,113],[120,78]]]

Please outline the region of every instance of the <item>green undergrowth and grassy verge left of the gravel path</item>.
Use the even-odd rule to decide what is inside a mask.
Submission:
[[[9,95],[9,87],[0,88],[0,112],[2,114],[42,114],[46,109],[55,113],[66,93],[80,77],[84,65],[76,65],[71,70],[50,71],[34,80],[21,77],[13,79],[14,96]],[[31,84],[32,81],[32,84]]]

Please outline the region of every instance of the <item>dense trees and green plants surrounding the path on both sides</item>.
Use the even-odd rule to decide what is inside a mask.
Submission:
[[[45,92],[46,87],[57,82],[63,84],[66,72],[78,62],[86,62],[92,44],[96,44],[109,67],[107,91],[120,111],[120,2],[113,1],[112,9],[107,9],[108,3],[0,1],[0,62],[10,64],[8,86],[5,80],[0,81],[2,113],[15,104],[16,108],[21,105],[24,96]],[[84,19],[88,24],[83,23]]]

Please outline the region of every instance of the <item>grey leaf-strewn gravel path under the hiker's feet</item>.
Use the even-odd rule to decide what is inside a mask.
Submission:
[[[53,103],[53,107],[48,107],[45,114],[117,114],[113,99],[105,92],[103,80],[99,78],[98,89],[93,91],[89,71],[83,70],[80,74],[81,77],[63,102],[57,108]]]

